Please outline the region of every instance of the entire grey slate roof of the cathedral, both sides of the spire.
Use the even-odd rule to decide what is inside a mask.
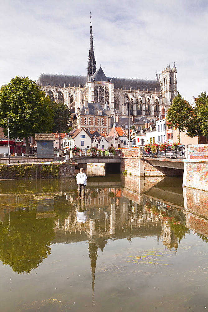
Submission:
[[[93,78],[94,77],[94,78]],[[104,74],[102,68],[100,67],[96,73],[92,76],[92,79],[95,79],[96,81],[108,81],[112,80],[112,83],[114,83],[114,89],[121,89],[125,90],[139,90],[143,91],[143,89],[146,91],[147,89],[155,90],[159,92],[161,90],[161,85],[158,80],[144,80],[144,79],[129,79],[129,78],[111,78],[106,77]],[[37,85],[51,85],[51,86],[61,86],[64,87],[64,84],[66,87],[69,85],[71,87],[75,86],[83,87],[86,83],[88,83],[88,77],[87,76],[75,76],[75,75],[50,75],[50,74],[41,74],[40,77],[37,80]]]

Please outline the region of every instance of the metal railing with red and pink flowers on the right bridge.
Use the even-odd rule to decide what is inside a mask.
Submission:
[[[159,150],[157,153],[145,152],[143,147],[143,156],[144,157],[160,157],[160,158],[186,158],[185,156],[185,146],[179,145],[176,148],[169,146],[165,152],[160,152]]]

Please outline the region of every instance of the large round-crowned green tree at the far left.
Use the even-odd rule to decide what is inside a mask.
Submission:
[[[49,96],[28,77],[15,77],[0,89],[0,126],[7,136],[7,117],[10,138],[25,138],[29,154],[29,136],[51,132],[54,112]]]

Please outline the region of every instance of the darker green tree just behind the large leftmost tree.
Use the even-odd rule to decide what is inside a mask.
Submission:
[[[66,132],[71,121],[71,112],[66,104],[60,102],[54,108],[54,132]]]

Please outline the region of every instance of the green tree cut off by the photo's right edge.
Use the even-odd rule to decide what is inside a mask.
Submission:
[[[193,115],[191,117],[191,120],[188,124],[187,128],[187,134],[190,137],[195,137],[195,136],[201,136],[203,135],[203,122],[201,120],[207,120],[208,119],[208,114],[205,112],[206,111],[206,103],[207,103],[207,96],[206,92],[201,92],[201,95],[199,95],[199,98],[196,100],[196,106],[192,109]],[[207,122],[204,124],[205,129],[207,126]],[[208,134],[208,131],[205,131],[205,135]]]

